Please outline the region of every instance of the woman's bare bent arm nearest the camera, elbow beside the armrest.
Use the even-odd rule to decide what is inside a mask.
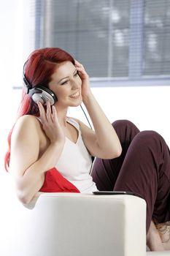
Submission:
[[[23,203],[30,202],[39,191],[45,172],[56,165],[63,150],[62,132],[54,132],[58,131],[58,123],[49,125],[46,121],[44,125],[49,138],[44,152],[40,151],[42,130],[34,116],[20,118],[12,132],[9,172],[14,176],[17,195]]]

